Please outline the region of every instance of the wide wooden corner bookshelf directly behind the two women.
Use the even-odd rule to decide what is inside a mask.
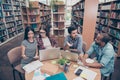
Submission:
[[[35,31],[40,27],[46,27],[51,22],[50,6],[38,1],[30,1],[29,7],[22,8],[24,27],[31,25]]]

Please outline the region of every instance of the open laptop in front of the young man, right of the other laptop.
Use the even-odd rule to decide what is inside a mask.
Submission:
[[[78,57],[79,57],[77,53],[70,52],[68,50],[66,50],[66,51],[62,50],[61,56],[65,59],[68,59],[71,61],[78,61]]]

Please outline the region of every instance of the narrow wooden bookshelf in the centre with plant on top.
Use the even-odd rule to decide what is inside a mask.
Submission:
[[[65,33],[65,5],[63,2],[55,3],[53,8],[53,34],[58,41],[58,46],[63,47]]]

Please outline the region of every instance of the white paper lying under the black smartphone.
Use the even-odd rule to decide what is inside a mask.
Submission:
[[[83,71],[81,72],[80,74],[80,77],[83,77],[83,78],[86,78],[87,80],[94,80],[97,73],[92,71],[92,70],[89,70],[88,68],[84,68],[82,66],[79,66],[75,71],[74,73],[78,70],[78,69],[82,69]]]

